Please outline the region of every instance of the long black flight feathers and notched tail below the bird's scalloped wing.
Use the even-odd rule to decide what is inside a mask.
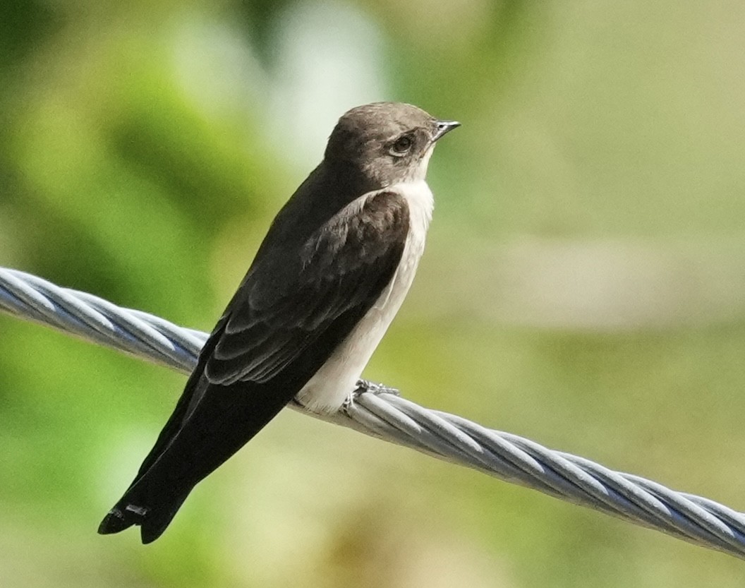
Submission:
[[[224,328],[223,319],[205,344],[197,368],[135,481],[101,522],[98,532],[118,533],[139,525],[142,543],[160,537],[194,486],[290,402],[372,306],[382,287],[370,297],[370,305],[356,306],[342,314],[293,361],[291,368],[261,384],[221,386],[202,376],[206,358]]]

